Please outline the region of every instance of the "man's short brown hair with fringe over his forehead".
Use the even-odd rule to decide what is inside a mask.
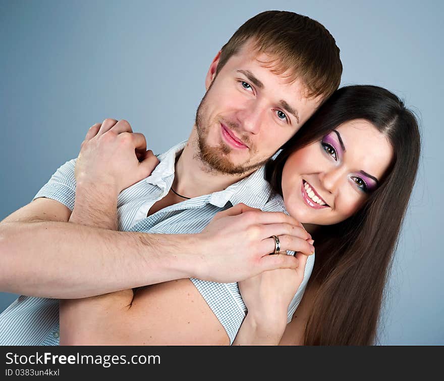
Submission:
[[[301,79],[307,87],[307,97],[325,100],[339,87],[340,50],[333,36],[317,21],[286,11],[259,13],[222,47],[216,74],[249,40],[255,50],[272,57],[264,62],[271,72],[280,75],[289,71],[289,82]]]

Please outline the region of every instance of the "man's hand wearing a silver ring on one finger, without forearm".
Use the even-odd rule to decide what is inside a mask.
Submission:
[[[292,255],[269,255],[274,251],[272,235],[279,236],[282,252],[314,252],[310,234],[293,217],[245,204],[217,213],[198,235],[204,242],[199,279],[240,281],[275,268],[297,268],[298,259]]]

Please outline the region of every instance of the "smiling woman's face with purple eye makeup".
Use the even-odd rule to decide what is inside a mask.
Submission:
[[[287,159],[282,192],[288,212],[307,224],[344,221],[377,188],[392,158],[390,142],[369,121],[341,124]]]

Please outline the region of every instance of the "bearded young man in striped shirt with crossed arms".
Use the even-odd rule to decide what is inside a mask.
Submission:
[[[88,131],[76,161],[2,222],[4,291],[73,299],[158,283],[134,300],[127,290],[62,303],[61,343],[232,342],[245,306],[236,283],[217,281],[296,267],[291,256],[267,256],[273,235],[281,251],[313,251],[298,222],[276,213],[283,208],[262,165],[341,72],[335,40],[319,23],[278,11],[248,20],[210,65],[188,142],[160,155],[149,177],[157,159],[144,137],[106,119]],[[230,209],[239,203],[267,212]],[[311,257],[293,311],[312,265]],[[0,343],[58,344],[58,313],[57,300],[20,297],[0,316]]]

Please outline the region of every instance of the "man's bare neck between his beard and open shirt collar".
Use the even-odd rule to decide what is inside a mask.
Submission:
[[[219,190],[224,190],[252,173],[229,175],[211,170],[198,157],[198,152],[197,133],[196,129],[193,128],[187,145],[176,161],[173,188],[180,195],[188,198],[209,195]]]

